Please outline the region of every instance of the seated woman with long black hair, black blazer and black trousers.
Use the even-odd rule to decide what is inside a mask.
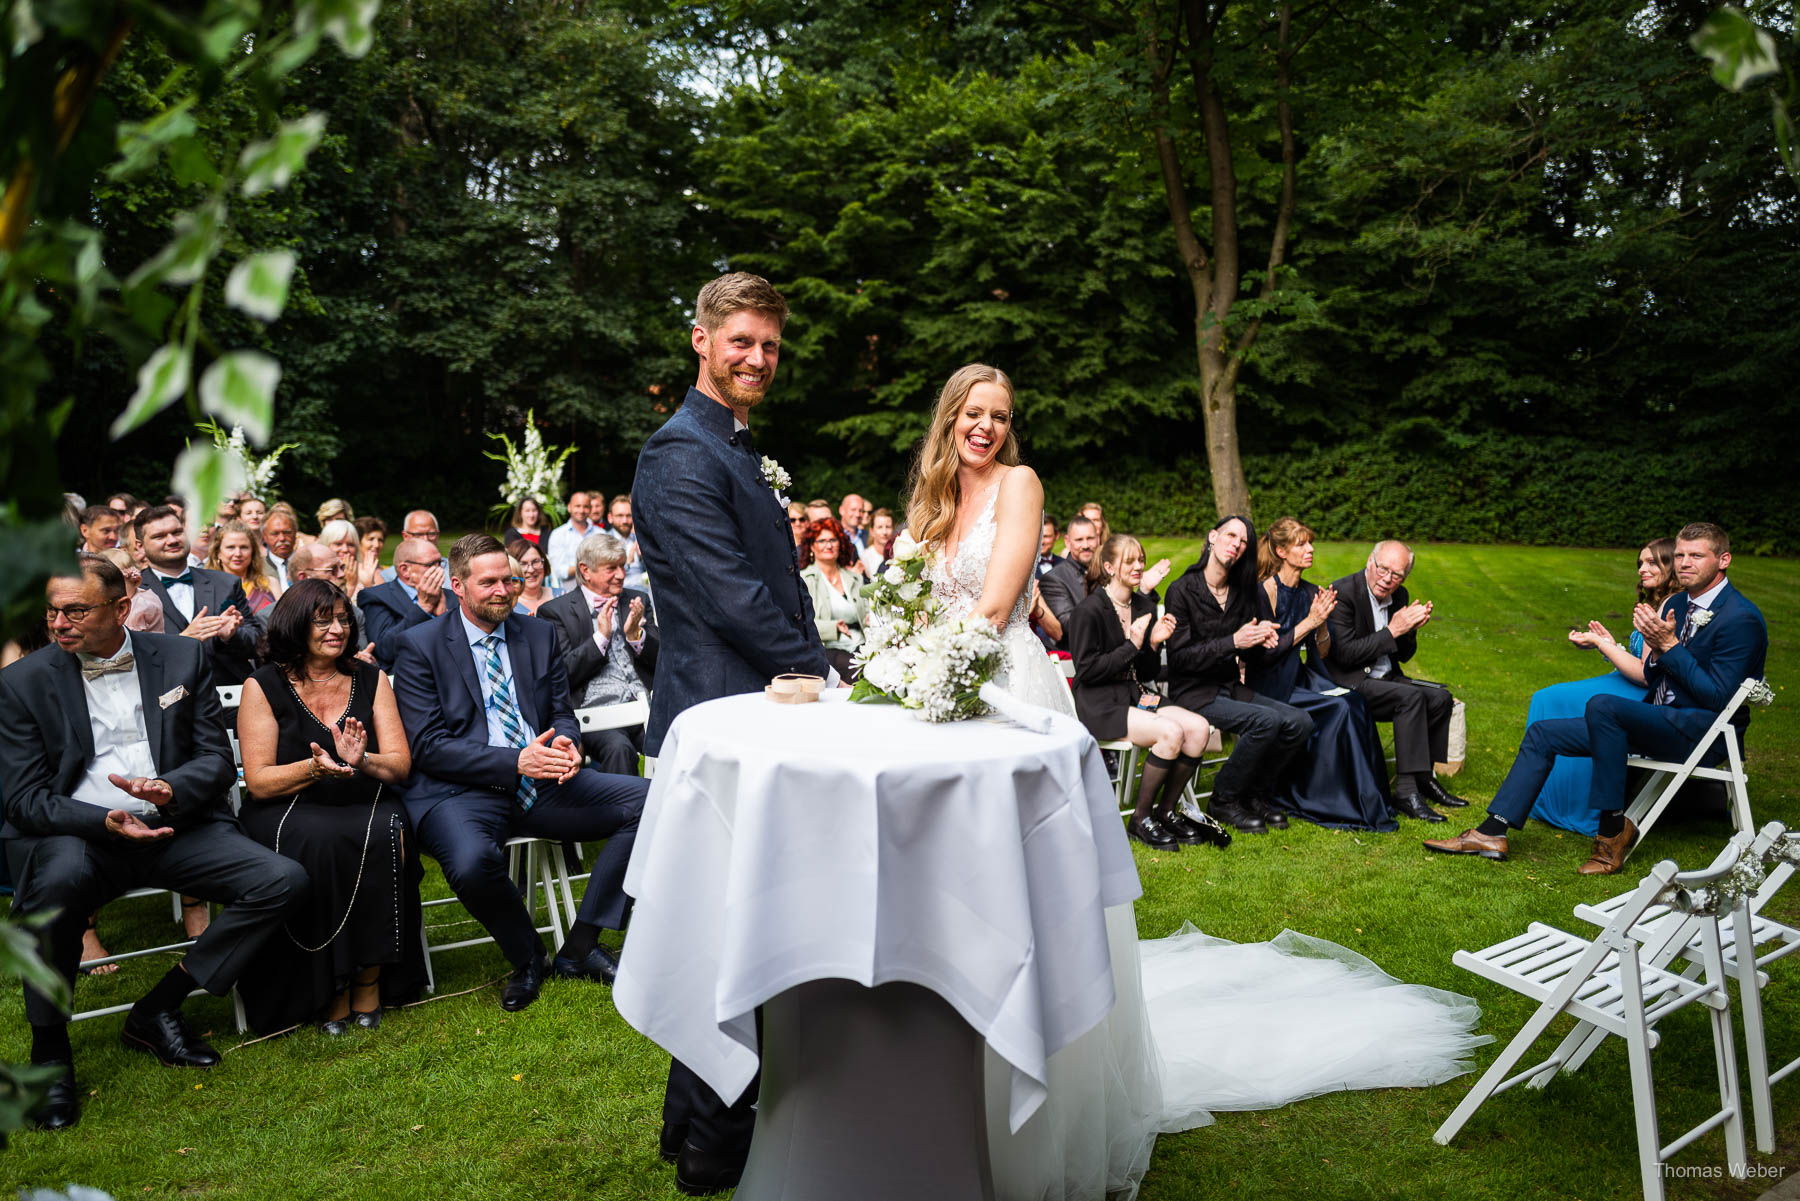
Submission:
[[[1168,612],[1175,618],[1168,699],[1237,735],[1206,812],[1228,826],[1265,834],[1287,828],[1287,816],[1269,798],[1305,751],[1312,718],[1244,684],[1240,663],[1282,639],[1273,621],[1256,618],[1255,546],[1249,519],[1226,517],[1208,531],[1199,562],[1168,587]]]

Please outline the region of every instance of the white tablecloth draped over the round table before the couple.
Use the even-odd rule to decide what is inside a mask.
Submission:
[[[619,1014],[734,1100],[763,1001],[918,983],[1012,1064],[1017,1131],[1112,1007],[1103,908],[1139,895],[1100,751],[1053,718],[932,726],[844,693],[682,713],[625,877]]]

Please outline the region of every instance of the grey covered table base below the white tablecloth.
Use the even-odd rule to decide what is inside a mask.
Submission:
[[[817,980],[763,1005],[736,1201],[994,1201],[983,1043],[909,983]]]

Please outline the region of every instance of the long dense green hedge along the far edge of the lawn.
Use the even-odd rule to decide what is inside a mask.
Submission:
[[[1715,520],[1735,549],[1800,551],[1800,474],[1717,463],[1679,448],[1499,434],[1427,450],[1366,441],[1253,456],[1244,470],[1258,524],[1294,515],[1323,538],[1631,547]],[[1109,524],[1134,533],[1195,535],[1215,519],[1204,461],[1046,472],[1044,492],[1058,520],[1098,501]]]

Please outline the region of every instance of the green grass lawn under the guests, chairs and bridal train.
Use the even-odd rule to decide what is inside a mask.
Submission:
[[[1199,544],[1152,540],[1152,560],[1177,571]],[[1364,547],[1319,547],[1312,578],[1361,565]],[[1769,677],[1778,700],[1750,733],[1751,799],[1759,821],[1800,823],[1800,715],[1782,688],[1800,679],[1796,630],[1778,598],[1800,585],[1800,564],[1741,560],[1737,585],[1771,618]],[[1526,699],[1544,684],[1593,675],[1598,655],[1564,643],[1564,630],[1598,616],[1627,625],[1629,551],[1424,547],[1409,580],[1436,603],[1420,637],[1418,673],[1454,686],[1469,704],[1469,765],[1454,790],[1492,796],[1525,726]],[[1451,965],[1458,947],[1481,947],[1532,920],[1571,926],[1571,906],[1622,891],[1658,857],[1705,864],[1728,835],[1723,821],[1665,817],[1652,848],[1622,879],[1575,875],[1588,844],[1532,823],[1498,864],[1427,857],[1426,830],[1348,834],[1296,825],[1238,837],[1226,852],[1152,855],[1138,848],[1145,936],[1193,920],[1235,940],[1283,927],[1361,951],[1391,974],[1474,996],[1481,1028],[1499,1043],[1478,1052],[1485,1068],[1530,1005]],[[428,884],[441,895],[441,877]],[[1800,897],[1784,898],[1800,920]],[[455,909],[450,909],[455,911]],[[441,922],[428,911],[428,920]],[[103,915],[110,945],[149,945],[167,933],[167,902],[139,900]],[[439,990],[481,989],[504,969],[493,947],[439,960]],[[1786,971],[1784,971],[1786,969]],[[83,1005],[130,1001],[162,963],[139,960],[112,978],[83,980]],[[1800,1053],[1800,972],[1777,967],[1768,994],[1771,1055]],[[306,1030],[243,1044],[225,1001],[191,1003],[225,1050],[214,1071],[158,1068],[119,1048],[119,1019],[72,1030],[86,1111],[76,1131],[22,1133],[0,1154],[0,1187],[79,1181],[117,1197],[677,1197],[655,1158],[668,1057],[630,1030],[592,985],[553,981],[533,1008],[502,1014],[495,989],[436,999],[387,1016],[376,1034],[328,1041]],[[1712,1061],[1705,1019],[1663,1025],[1656,1084],[1663,1138],[1710,1113]],[[1193,1030],[1228,1039],[1229,1030]],[[0,1055],[23,1059],[16,990],[0,996]],[[1490,1100],[1451,1147],[1431,1133],[1472,1084],[1336,1093],[1271,1113],[1219,1115],[1217,1125],[1157,1143],[1145,1201],[1190,1197],[1627,1197],[1636,1196],[1631,1086],[1620,1048],[1606,1046],[1575,1077],[1544,1093]],[[1800,1084],[1777,1086],[1780,1145],[1753,1165],[1800,1161]],[[1723,1140],[1703,1138],[1676,1165],[1719,1169]],[[1759,1181],[1670,1179],[1674,1197],[1755,1197]]]

